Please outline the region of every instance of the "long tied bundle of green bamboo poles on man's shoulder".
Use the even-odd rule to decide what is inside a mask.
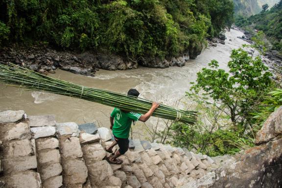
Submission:
[[[42,91],[76,97],[140,114],[145,114],[152,106],[152,101],[143,98],[80,86],[48,77],[14,64],[5,65],[1,62],[0,83],[21,87],[30,91]],[[154,111],[152,116],[180,121],[186,124],[194,124],[196,121],[196,112],[179,110],[163,104]]]

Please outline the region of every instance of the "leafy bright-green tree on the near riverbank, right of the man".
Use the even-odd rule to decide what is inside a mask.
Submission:
[[[228,63],[229,73],[218,69],[216,60],[197,73],[192,83],[192,94],[202,95],[207,103],[216,102],[216,107],[227,114],[234,125],[243,126],[250,122],[250,113],[271,86],[272,75],[259,57],[253,58],[242,48],[233,49]],[[189,94],[189,93],[188,93]]]

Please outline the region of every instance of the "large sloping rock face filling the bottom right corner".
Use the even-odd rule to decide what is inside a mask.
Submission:
[[[183,188],[281,188],[282,107],[264,122],[258,146]]]

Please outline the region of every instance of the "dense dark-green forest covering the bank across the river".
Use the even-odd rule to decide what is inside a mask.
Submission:
[[[135,58],[201,48],[233,18],[232,0],[4,0],[0,10],[2,44],[45,41]]]

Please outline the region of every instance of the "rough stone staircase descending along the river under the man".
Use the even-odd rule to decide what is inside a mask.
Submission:
[[[133,140],[123,164],[109,164],[111,143],[105,127],[88,134],[53,116],[1,112],[0,188],[177,188],[233,159]]]

